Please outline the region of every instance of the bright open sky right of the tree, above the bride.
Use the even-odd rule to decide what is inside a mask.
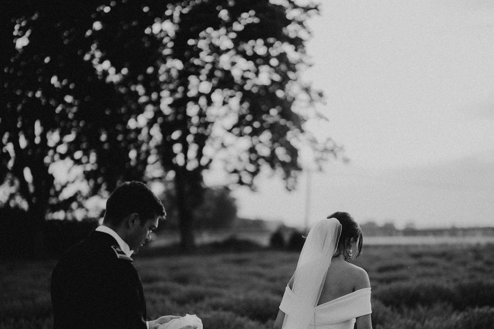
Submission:
[[[259,177],[239,215],[303,225],[333,211],[398,227],[494,226],[494,2],[324,1],[306,79],[322,89],[349,165],[288,193]]]

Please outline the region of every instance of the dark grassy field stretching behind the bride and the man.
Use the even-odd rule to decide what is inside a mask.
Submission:
[[[197,314],[211,329],[272,328],[297,253],[135,257],[148,316]],[[55,261],[0,264],[0,329],[51,328]],[[494,245],[364,246],[375,329],[494,328]]]

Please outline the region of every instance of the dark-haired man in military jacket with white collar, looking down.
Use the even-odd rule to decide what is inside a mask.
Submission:
[[[143,286],[131,258],[165,215],[143,183],[126,182],[113,191],[103,224],[65,252],[53,270],[54,329],[155,329],[178,318],[146,321]]]

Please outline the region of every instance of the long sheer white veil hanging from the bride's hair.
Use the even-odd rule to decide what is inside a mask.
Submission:
[[[340,234],[341,224],[336,218],[325,218],[309,231],[295,269],[291,289],[295,298],[285,313],[283,329],[308,327]]]

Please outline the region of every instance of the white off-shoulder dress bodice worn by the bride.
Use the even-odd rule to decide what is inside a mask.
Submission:
[[[279,309],[289,314],[290,310],[298,307],[297,296],[287,286]],[[312,312],[308,329],[353,329],[357,317],[372,313],[371,288],[359,289],[317,305]]]

